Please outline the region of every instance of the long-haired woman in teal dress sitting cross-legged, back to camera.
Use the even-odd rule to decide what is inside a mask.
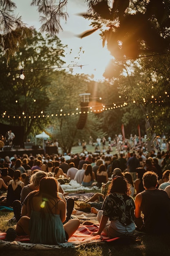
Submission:
[[[31,243],[61,245],[75,233],[79,220],[66,220],[66,204],[57,197],[57,181],[44,177],[40,190],[29,193],[26,208],[28,216],[22,216],[17,223],[18,235],[27,234]]]

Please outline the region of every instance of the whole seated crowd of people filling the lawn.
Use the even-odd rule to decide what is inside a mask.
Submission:
[[[135,230],[169,231],[170,151],[140,148],[131,153],[107,150],[0,159],[0,191],[6,191],[5,204],[13,207],[16,234],[29,235],[31,243],[66,243],[80,225],[75,216],[71,218],[74,200],[66,200],[68,193],[62,189],[70,180],[101,188],[101,193],[86,201],[95,202],[91,212],[100,223],[92,236],[104,232],[110,238],[134,237]]]

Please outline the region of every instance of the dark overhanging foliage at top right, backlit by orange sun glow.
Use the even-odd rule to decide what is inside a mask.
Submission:
[[[101,30],[116,59],[137,58],[144,53],[162,53],[170,45],[170,2],[168,0],[86,0],[91,25]],[[106,29],[106,26],[109,29]],[[86,33],[86,32],[85,32]],[[150,36],[152,35],[152,36]],[[82,35],[83,37],[83,35]]]

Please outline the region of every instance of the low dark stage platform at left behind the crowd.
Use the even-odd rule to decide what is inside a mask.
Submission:
[[[13,157],[13,155],[20,155],[22,157],[23,154],[27,154],[28,156],[32,154],[33,156],[36,156],[38,154],[43,154],[44,155],[44,149],[43,148],[37,148],[37,149],[32,149],[32,148],[17,148],[17,149],[11,149],[11,150],[0,150],[0,157],[5,158],[7,155],[9,157]]]

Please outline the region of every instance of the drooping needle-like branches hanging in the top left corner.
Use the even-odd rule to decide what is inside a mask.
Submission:
[[[38,7],[42,26],[40,31],[54,36],[62,30],[60,25],[61,18],[67,20],[66,10],[67,0],[32,0],[31,5]],[[17,8],[11,0],[0,1],[0,43],[2,53],[5,54],[7,63],[9,59],[19,51],[20,47],[25,47],[29,43],[26,39],[33,35],[33,27],[27,27],[22,22],[22,17],[16,17],[13,11]]]

